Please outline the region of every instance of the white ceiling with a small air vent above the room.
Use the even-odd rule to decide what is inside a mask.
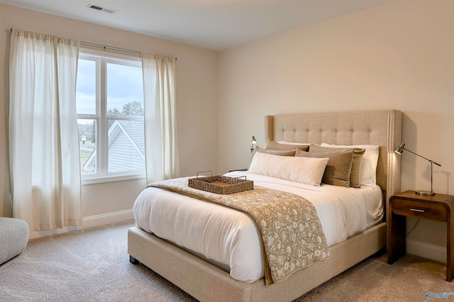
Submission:
[[[209,50],[266,38],[390,0],[0,0]],[[88,4],[118,10],[106,13]]]

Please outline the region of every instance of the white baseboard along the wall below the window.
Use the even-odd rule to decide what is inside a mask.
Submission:
[[[112,223],[121,223],[123,221],[133,220],[133,210],[118,211],[113,213],[105,213],[95,216],[87,216],[82,218],[82,225],[79,226],[66,226],[65,228],[57,228],[53,230],[38,230],[33,231],[28,235],[28,240],[45,237],[50,235],[57,235],[63,233],[73,232],[74,230],[83,230],[86,228],[94,228],[101,225],[110,225]]]

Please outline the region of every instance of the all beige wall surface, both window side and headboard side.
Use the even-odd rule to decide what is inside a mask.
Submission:
[[[247,167],[250,137],[264,144],[267,114],[394,108],[404,113],[406,147],[442,164],[434,189],[454,194],[454,1],[392,1],[222,52],[4,5],[0,26],[0,216],[11,213],[10,27],[178,57],[183,175]],[[84,186],[84,216],[131,208],[143,185]],[[428,162],[404,153],[402,190],[429,186]],[[421,220],[408,238],[444,247],[445,224]]]

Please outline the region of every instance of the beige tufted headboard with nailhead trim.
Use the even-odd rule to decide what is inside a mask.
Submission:
[[[402,140],[402,112],[353,111],[265,116],[265,142],[326,142],[336,145],[379,145],[377,184],[386,200],[400,190],[400,157],[394,148]]]

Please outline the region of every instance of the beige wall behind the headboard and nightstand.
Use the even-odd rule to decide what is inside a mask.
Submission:
[[[406,147],[442,164],[434,190],[454,195],[453,28],[454,1],[399,0],[220,52],[218,170],[247,167],[267,114],[394,108]],[[429,167],[404,153],[402,190],[430,189]],[[421,221],[408,238],[445,246],[445,232]]]

